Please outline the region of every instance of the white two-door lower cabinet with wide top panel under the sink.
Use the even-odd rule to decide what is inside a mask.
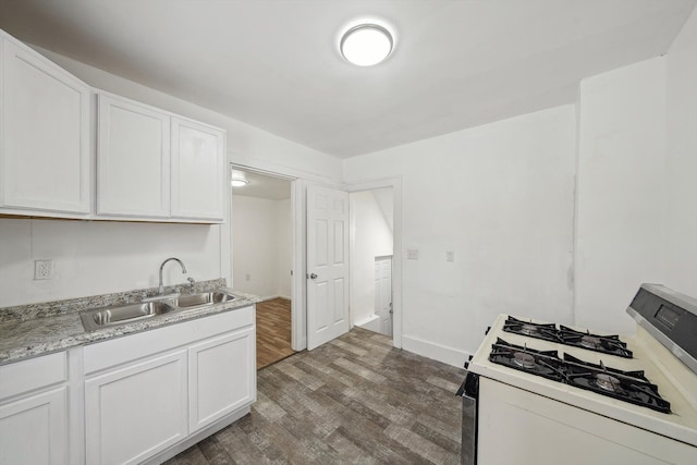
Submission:
[[[254,306],[84,350],[86,463],[159,463],[256,400]]]

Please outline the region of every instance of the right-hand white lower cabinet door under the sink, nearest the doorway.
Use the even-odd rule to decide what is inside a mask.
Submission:
[[[255,400],[254,331],[229,333],[189,347],[192,432]]]

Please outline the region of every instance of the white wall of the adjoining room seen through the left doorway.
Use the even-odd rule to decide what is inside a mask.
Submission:
[[[232,212],[234,287],[261,298],[290,296],[290,200],[233,195]]]

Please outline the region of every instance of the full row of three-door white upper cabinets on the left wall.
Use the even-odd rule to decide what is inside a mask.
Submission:
[[[224,131],[95,90],[3,30],[0,52],[0,215],[224,221]]]

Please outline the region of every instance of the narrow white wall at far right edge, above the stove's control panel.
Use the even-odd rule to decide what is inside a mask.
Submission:
[[[697,297],[697,10],[668,53],[665,285]]]

